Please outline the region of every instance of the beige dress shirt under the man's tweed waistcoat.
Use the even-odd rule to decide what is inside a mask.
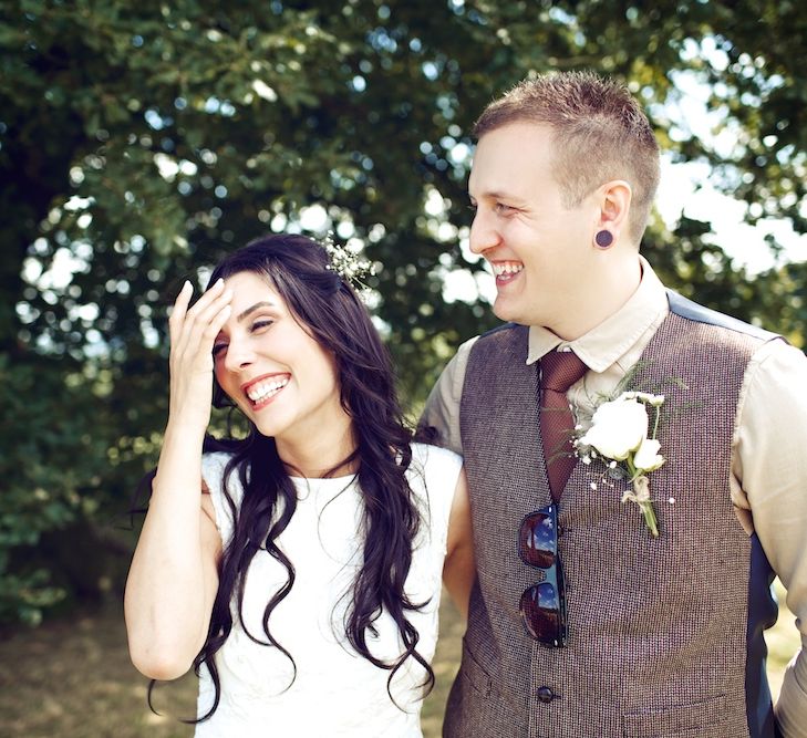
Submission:
[[[641,258],[641,257],[640,257]],[[565,342],[530,326],[527,363],[556,347],[571,349],[589,371],[569,388],[584,425],[597,402],[613,393],[669,312],[666,292],[641,258],[642,280],[628,302],[598,326]],[[459,403],[468,354],[465,342],[432,389],[422,423],[439,428],[443,443],[463,453]],[[663,453],[663,449],[662,449]],[[803,647],[787,667],[776,704],[786,738],[807,738],[807,357],[783,341],[763,344],[741,388],[732,439],[732,501],[748,534],[756,532],[796,615]]]

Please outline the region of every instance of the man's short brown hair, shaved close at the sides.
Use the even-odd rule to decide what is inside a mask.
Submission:
[[[538,75],[490,103],[474,135],[480,138],[510,123],[551,128],[555,178],[568,207],[607,181],[628,181],[633,190],[630,236],[639,243],[659,186],[659,144],[628,87],[592,72]]]

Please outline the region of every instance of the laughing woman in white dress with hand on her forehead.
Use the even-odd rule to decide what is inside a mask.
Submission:
[[[199,682],[196,736],[421,736],[443,580],[474,579],[462,459],[415,444],[319,243],[228,256],[169,320],[170,406],[126,583],[132,661]],[[206,434],[211,399],[244,439]]]

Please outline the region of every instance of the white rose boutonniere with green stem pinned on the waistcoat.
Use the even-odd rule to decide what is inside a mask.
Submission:
[[[591,417],[591,427],[575,445],[587,464],[601,457],[609,470],[621,468],[632,485],[622,495],[622,502],[635,502],[653,538],[659,536],[653,502],[650,499],[648,475],[664,464],[659,454],[661,444],[655,439],[664,395],[646,392],[623,392],[615,399],[602,403]],[[648,407],[655,410],[653,430],[648,435]]]

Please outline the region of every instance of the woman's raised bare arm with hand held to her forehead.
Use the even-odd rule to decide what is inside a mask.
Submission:
[[[221,554],[213,503],[203,493],[201,446],[213,342],[231,294],[219,283],[188,310],[190,293],[186,284],[169,320],[170,410],[124,601],[132,662],[158,679],[182,676],[205,643]]]

